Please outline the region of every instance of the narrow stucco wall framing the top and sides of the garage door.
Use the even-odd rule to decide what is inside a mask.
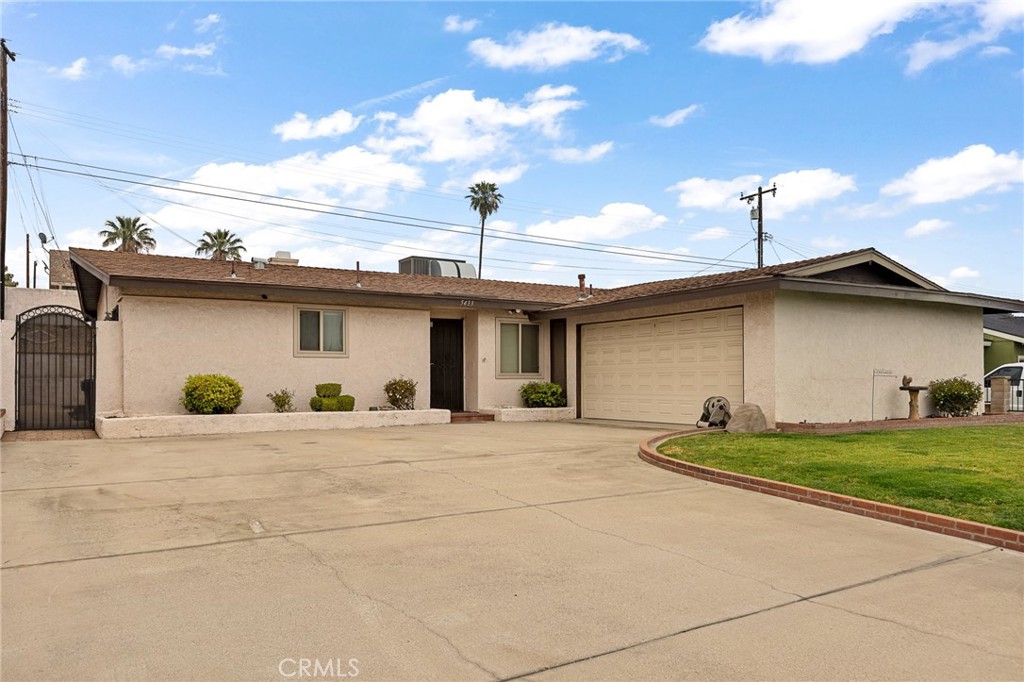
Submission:
[[[743,309],[743,401],[759,404],[768,422],[775,420],[775,335],[772,292],[757,292],[739,296],[721,296],[700,301],[687,301],[669,305],[651,305],[629,311],[600,312],[572,315],[568,318],[566,353],[569,404],[577,404],[577,334],[578,325],[655,317],[683,312],[697,312],[718,308],[742,307]]]

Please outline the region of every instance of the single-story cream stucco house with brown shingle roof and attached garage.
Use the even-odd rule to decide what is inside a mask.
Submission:
[[[339,381],[356,409],[419,382],[418,408],[518,406],[555,381],[577,415],[692,424],[705,398],[769,422],[902,418],[915,384],[979,380],[986,312],[1024,301],[946,291],[872,249],[616,289],[359,272],[72,249],[97,324],[96,411],[182,413],[190,374],[231,375],[242,412]],[[928,414],[927,393],[925,414]]]

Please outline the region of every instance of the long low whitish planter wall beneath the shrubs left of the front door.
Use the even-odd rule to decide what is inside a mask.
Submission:
[[[96,435],[100,438],[159,438],[259,431],[366,429],[380,426],[449,424],[451,421],[452,413],[447,410],[96,417]]]

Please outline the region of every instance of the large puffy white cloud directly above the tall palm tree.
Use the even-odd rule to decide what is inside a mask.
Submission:
[[[419,152],[422,161],[444,163],[490,158],[508,150],[518,131],[549,139],[562,135],[562,117],[584,105],[571,86],[542,86],[522,102],[477,99],[472,90],[447,90],[420,101],[409,117],[377,117],[379,135],[367,144],[379,152]]]

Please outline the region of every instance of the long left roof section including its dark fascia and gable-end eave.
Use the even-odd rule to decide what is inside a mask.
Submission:
[[[125,291],[164,296],[260,298],[299,300],[313,294],[347,295],[358,299],[388,299],[407,304],[444,301],[460,305],[495,304],[523,310],[549,308],[574,300],[571,286],[526,284],[499,280],[469,280],[426,274],[333,269],[268,263],[256,269],[244,261],[216,261],[93,249],[71,250],[82,309],[95,316],[100,284]],[[231,273],[234,273],[232,276]],[[310,302],[312,302],[310,300]]]

